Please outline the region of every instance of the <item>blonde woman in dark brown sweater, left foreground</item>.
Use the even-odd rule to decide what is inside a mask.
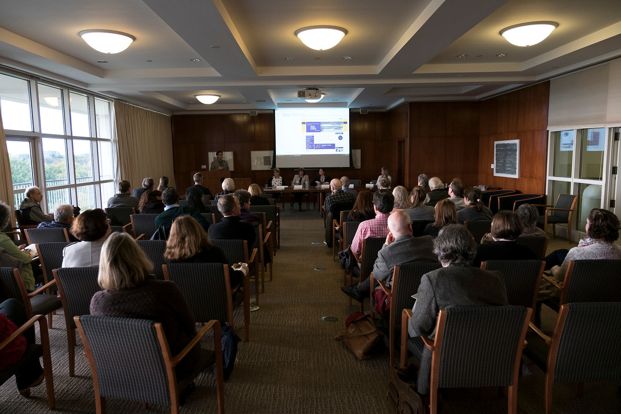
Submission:
[[[158,281],[153,263],[127,233],[112,233],[101,250],[100,290],[91,299],[91,315],[149,319],[160,322],[173,355],[196,335],[196,321],[188,302],[174,282]],[[193,371],[197,347],[175,367],[178,375]],[[183,392],[183,390],[182,390]]]

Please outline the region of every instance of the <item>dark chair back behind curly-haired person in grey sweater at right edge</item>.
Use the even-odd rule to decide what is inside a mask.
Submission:
[[[620,274],[621,260],[570,261],[560,303],[621,302]]]

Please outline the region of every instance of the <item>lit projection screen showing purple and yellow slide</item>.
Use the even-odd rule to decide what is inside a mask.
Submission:
[[[348,167],[347,108],[276,110],[276,166]]]

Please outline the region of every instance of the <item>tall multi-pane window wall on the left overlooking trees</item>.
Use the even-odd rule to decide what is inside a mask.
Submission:
[[[0,110],[7,135],[16,208],[37,185],[42,209],[102,206],[116,192],[111,102],[88,92],[0,73]]]

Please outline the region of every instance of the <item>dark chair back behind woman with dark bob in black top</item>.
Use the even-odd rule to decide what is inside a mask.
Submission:
[[[535,308],[545,262],[540,260],[488,260],[481,269],[497,270],[507,287],[509,305]]]

